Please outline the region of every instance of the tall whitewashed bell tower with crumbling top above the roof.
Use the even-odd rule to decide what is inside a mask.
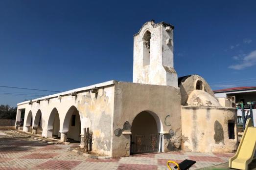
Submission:
[[[173,67],[174,26],[154,20],[134,35],[133,82],[178,87]]]

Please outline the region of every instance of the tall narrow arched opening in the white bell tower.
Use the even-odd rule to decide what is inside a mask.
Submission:
[[[151,40],[151,33],[146,31],[143,35],[143,65],[150,64],[150,40]]]

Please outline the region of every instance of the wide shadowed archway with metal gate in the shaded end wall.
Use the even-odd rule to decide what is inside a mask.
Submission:
[[[131,154],[153,153],[162,151],[160,131],[162,123],[151,111],[140,112],[131,127]]]

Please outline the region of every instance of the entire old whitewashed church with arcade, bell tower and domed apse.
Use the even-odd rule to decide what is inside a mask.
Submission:
[[[19,103],[16,128],[65,142],[82,141],[89,127],[92,151],[113,158],[233,152],[236,110],[228,99],[217,100],[202,77],[178,78],[173,30],[171,24],[148,21],[134,35],[132,83],[112,80]]]

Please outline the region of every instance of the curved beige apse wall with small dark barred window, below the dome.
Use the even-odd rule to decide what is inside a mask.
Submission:
[[[237,148],[236,110],[232,107],[181,106],[182,148],[193,152],[233,152]],[[229,139],[233,122],[235,138]]]

